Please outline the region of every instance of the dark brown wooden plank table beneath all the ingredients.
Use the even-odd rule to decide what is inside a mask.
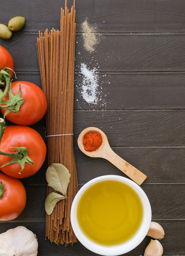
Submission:
[[[68,8],[73,1],[68,0]],[[26,25],[10,40],[0,38],[12,55],[19,80],[41,87],[37,61],[38,31],[59,29],[64,0],[1,0],[0,23],[24,16]],[[84,46],[82,23],[94,25],[98,43]],[[104,159],[87,157],[77,146],[81,130],[103,130],[112,149],[145,173],[141,185],[152,220],[165,230],[164,254],[185,255],[185,4],[183,0],[76,0],[74,147],[79,187],[104,174],[124,176]],[[98,101],[81,95],[81,64],[98,71]],[[44,137],[45,121],[31,126]],[[45,139],[46,141],[46,139]],[[0,233],[24,225],[38,238],[38,256],[95,255],[80,243],[57,246],[45,240],[45,171],[22,182],[26,207],[15,220],[0,223]],[[150,238],[129,252],[144,254]]]

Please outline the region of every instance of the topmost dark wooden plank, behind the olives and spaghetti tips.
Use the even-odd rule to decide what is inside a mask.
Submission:
[[[59,29],[60,8],[64,2],[55,0],[22,1],[7,0],[4,4],[1,20],[8,22],[13,12],[17,16],[26,16],[28,22],[24,31]],[[68,0],[68,6],[73,0]],[[77,32],[81,31],[81,22],[88,18],[96,24],[100,32],[184,32],[184,11],[182,0],[78,0]]]

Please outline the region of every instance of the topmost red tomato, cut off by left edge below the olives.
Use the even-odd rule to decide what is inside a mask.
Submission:
[[[12,70],[14,69],[13,58],[10,53],[0,45],[0,70],[4,67],[10,67]],[[11,76],[13,76],[13,72],[10,71]]]

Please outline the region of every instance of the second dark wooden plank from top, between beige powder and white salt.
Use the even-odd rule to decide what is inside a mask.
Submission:
[[[39,71],[36,41],[38,33],[15,34],[0,40],[14,56],[15,72]],[[99,72],[182,72],[185,70],[185,34],[104,34],[95,47],[93,58],[84,49],[82,36],[77,34],[75,71],[81,63]],[[14,45],[12,48],[11,45]],[[102,56],[102,58],[100,57]],[[25,58],[26,57],[26,58]],[[24,60],[24,64],[23,64]]]

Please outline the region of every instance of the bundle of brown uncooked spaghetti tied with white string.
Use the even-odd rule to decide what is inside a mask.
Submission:
[[[46,238],[58,245],[73,245],[77,242],[70,223],[70,208],[78,191],[73,147],[75,0],[70,12],[66,2],[65,13],[61,8],[60,31],[39,31],[36,43],[42,90],[48,102],[48,166],[52,163],[64,164],[71,175],[67,199],[57,202],[51,215],[46,214]],[[47,186],[47,195],[51,192],[56,191]]]

